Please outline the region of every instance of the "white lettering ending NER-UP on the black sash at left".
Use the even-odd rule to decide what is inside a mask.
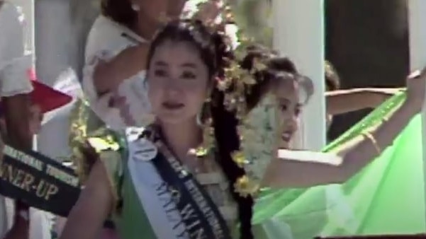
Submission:
[[[10,146],[4,146],[4,155],[16,159],[17,161],[34,168],[42,174],[54,177],[57,180],[65,182],[72,187],[79,186],[79,179],[74,175],[55,168],[52,165],[47,165],[33,156],[16,150]],[[45,179],[39,179],[35,173],[30,173],[23,168],[18,168],[11,163],[2,162],[0,167],[0,178],[11,185],[20,188],[26,192],[35,193],[36,197],[40,197],[48,201],[53,195],[59,192],[59,187],[52,183],[47,182]]]

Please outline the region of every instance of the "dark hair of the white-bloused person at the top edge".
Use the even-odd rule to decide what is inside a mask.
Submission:
[[[135,25],[137,13],[132,9],[130,0],[101,0],[103,16],[132,29]]]

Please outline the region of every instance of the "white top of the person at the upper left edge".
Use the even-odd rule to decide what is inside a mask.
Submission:
[[[23,15],[5,1],[0,7],[0,96],[30,93],[32,57],[25,52]]]

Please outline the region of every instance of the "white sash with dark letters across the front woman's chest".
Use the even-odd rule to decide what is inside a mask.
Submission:
[[[189,239],[176,204],[171,201],[172,197],[164,186],[164,181],[150,162],[152,158],[147,158],[143,153],[135,153],[154,145],[146,139],[128,142],[130,178],[155,235],[159,239]]]

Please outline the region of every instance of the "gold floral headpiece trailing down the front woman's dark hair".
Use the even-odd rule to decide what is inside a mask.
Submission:
[[[238,166],[245,168],[246,165],[249,165],[251,162],[246,160],[244,148],[247,142],[253,139],[253,136],[246,135],[250,134],[250,131],[245,130],[245,119],[248,112],[246,93],[250,92],[250,88],[257,83],[254,77],[255,74],[267,69],[267,64],[264,63],[261,57],[255,57],[251,70],[241,67],[240,62],[242,62],[242,59],[247,55],[247,47],[253,45],[252,40],[245,37],[241,30],[235,31],[235,28],[229,26],[230,24],[228,23],[235,23],[229,6],[225,6],[220,15],[223,18],[223,25],[220,25],[219,28],[218,25],[209,27],[211,30],[216,32],[219,31],[219,33],[225,37],[228,49],[232,50],[232,59],[224,59],[227,63],[227,66],[223,69],[224,76],[222,78],[217,78],[215,86],[219,91],[224,93],[223,104],[225,109],[230,112],[235,112],[235,116],[239,121],[237,133],[240,136],[240,149],[232,152],[231,156],[232,160],[235,161]],[[233,34],[227,33],[227,29],[234,30]],[[215,141],[212,123],[213,120],[210,118],[204,120],[203,144],[191,150],[190,153],[197,157],[203,157],[214,147]],[[252,180],[252,177],[246,173],[234,182],[234,188],[235,192],[240,194],[240,196],[247,197],[259,191],[259,182],[257,182],[257,180]]]

